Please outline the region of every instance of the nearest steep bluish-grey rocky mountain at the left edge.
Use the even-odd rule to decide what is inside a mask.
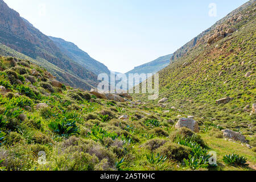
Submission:
[[[67,72],[67,75],[78,77],[80,81],[77,82],[73,82],[71,77],[64,78],[64,82],[71,86],[90,89],[98,84],[96,74],[88,71],[84,65],[76,63],[67,56],[68,53],[64,54],[48,36],[21,18],[19,13],[10,9],[2,0],[0,0],[0,43],[38,62],[41,59],[47,60],[47,65],[56,65]]]

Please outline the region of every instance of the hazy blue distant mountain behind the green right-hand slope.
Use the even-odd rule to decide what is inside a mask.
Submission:
[[[125,73],[126,75],[128,75],[129,73],[156,73],[158,71],[160,71],[161,69],[167,67],[170,64],[170,59],[171,59],[172,55],[167,55],[167,56],[162,56],[159,57],[158,59],[151,61],[149,63],[146,64],[142,64],[138,67],[135,67],[133,70]]]

